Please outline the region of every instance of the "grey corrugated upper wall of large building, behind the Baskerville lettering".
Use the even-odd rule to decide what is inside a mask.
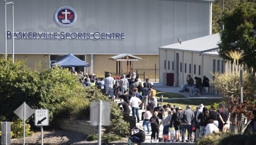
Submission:
[[[15,32],[124,32],[123,40],[15,39],[18,54],[158,54],[158,47],[209,34],[207,0],[13,0]],[[54,14],[62,6],[77,12],[73,26],[63,27]],[[0,1],[0,34],[5,34]],[[7,31],[12,30],[7,9]],[[5,52],[4,37],[0,53]],[[12,52],[8,40],[8,53]]]

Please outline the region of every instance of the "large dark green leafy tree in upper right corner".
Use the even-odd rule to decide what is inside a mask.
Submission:
[[[224,12],[222,21],[225,29],[220,32],[220,56],[231,60],[226,54],[236,50],[245,55],[240,63],[245,63],[247,68],[256,68],[256,4],[239,3],[232,11]]]

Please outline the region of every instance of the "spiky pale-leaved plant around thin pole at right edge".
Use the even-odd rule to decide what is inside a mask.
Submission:
[[[233,69],[225,73],[214,73],[212,84],[221,93],[225,104],[229,106],[232,124],[235,133],[244,133],[253,117],[253,103],[255,101],[256,83],[252,73],[243,71],[243,100],[240,102],[239,86],[239,60],[243,54],[230,51],[227,57],[233,59]],[[246,121],[247,120],[247,121]]]

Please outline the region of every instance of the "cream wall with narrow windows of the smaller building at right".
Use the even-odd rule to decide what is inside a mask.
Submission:
[[[164,69],[164,61],[166,60],[166,53],[167,53],[167,60],[170,60],[170,70],[168,70],[168,61],[167,67]],[[176,61],[176,53],[179,54],[179,61],[177,67]],[[160,79],[159,82],[163,83],[163,73],[174,73],[174,82],[177,84],[176,86],[182,87],[186,84],[186,76],[188,74],[194,79],[196,77],[201,77],[206,75],[207,78],[211,79],[213,72],[213,60],[215,61],[215,71],[218,71],[218,60],[220,63],[223,59],[217,55],[206,55],[202,54],[201,56],[198,55],[198,52],[187,52],[187,51],[175,51],[175,50],[159,50],[159,61],[160,61]],[[172,70],[172,61],[174,61],[174,70]],[[180,71],[180,63],[182,63],[182,70]],[[186,63],[186,73],[185,73],[185,63]],[[189,73],[189,64],[191,64],[191,73]],[[219,72],[222,72],[222,68],[225,71],[225,62],[223,62],[224,66],[222,67],[222,63],[219,64]],[[199,74],[199,65],[201,66],[200,74]],[[195,68],[195,73],[194,73]],[[177,72],[178,69],[178,72]],[[178,73],[178,75],[177,75]],[[178,81],[178,83],[177,83]]]

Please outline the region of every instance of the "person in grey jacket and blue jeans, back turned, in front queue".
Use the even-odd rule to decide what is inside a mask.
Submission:
[[[180,118],[181,118],[181,125],[182,125],[182,138],[181,138],[182,141],[181,142],[185,141],[186,130],[188,130],[189,132],[189,136],[190,136],[189,142],[193,142],[194,136],[192,134],[192,122],[195,118],[195,113],[191,110],[190,105],[187,105],[186,110],[183,110],[180,113]]]

